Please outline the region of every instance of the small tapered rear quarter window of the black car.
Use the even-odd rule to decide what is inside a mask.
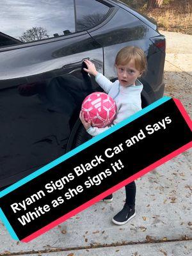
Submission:
[[[95,0],[76,0],[76,31],[97,26],[109,11],[109,6]]]

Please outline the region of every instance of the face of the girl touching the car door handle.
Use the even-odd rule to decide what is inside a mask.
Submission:
[[[134,64],[134,60],[129,61],[125,66],[115,65],[117,70],[118,81],[124,87],[135,85],[135,81],[141,76],[142,72],[137,70]]]

